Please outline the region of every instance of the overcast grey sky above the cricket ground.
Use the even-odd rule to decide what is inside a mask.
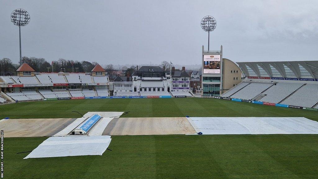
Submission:
[[[318,1],[70,1],[1,0],[0,58],[19,58],[23,8],[31,21],[21,27],[22,55],[100,64],[200,64],[208,34],[200,21],[217,20],[210,50],[223,45],[232,61],[318,60]]]

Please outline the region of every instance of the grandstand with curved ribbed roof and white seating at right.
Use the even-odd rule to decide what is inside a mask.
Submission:
[[[238,62],[245,78],[220,97],[318,109],[318,61]]]

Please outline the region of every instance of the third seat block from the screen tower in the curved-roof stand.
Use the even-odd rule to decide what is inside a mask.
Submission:
[[[263,94],[265,95],[263,98],[259,99],[259,101],[268,102],[268,103],[279,103],[287,96],[292,94],[295,90],[300,88],[302,83],[283,83],[278,82],[276,85],[271,86],[267,89]]]

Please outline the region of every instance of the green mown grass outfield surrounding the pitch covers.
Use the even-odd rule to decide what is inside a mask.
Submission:
[[[0,106],[0,118],[76,118],[79,111],[125,117],[306,117],[318,112],[210,98],[90,99]],[[41,138],[4,139],[5,178],[318,178],[318,135],[112,136],[102,156],[25,159]]]

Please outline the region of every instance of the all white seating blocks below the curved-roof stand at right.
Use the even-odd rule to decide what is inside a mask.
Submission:
[[[277,82],[248,83],[242,82],[221,97],[245,100],[257,99],[262,102],[280,103],[318,109],[318,84]],[[232,95],[231,95],[232,94]]]

